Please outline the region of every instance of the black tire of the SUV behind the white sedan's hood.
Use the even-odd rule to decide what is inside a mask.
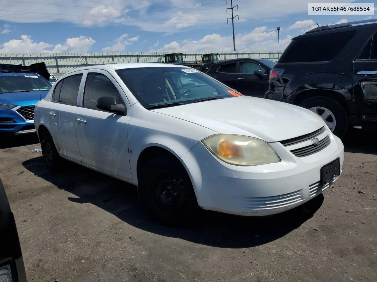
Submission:
[[[343,108],[342,105],[340,105],[336,100],[323,97],[323,96],[317,96],[309,98],[299,105],[300,107],[306,108],[306,109],[313,109],[315,107],[317,108],[318,112],[323,112],[323,109],[327,109],[333,114],[333,117],[335,118],[335,128],[333,131],[334,135],[338,136],[340,139],[344,138],[347,131],[348,131],[348,116]],[[321,109],[323,108],[323,109]],[[321,115],[321,114],[320,114]],[[326,124],[331,124],[332,116],[330,115],[325,121]],[[330,126],[329,126],[330,127]],[[331,129],[331,127],[330,127]]]

